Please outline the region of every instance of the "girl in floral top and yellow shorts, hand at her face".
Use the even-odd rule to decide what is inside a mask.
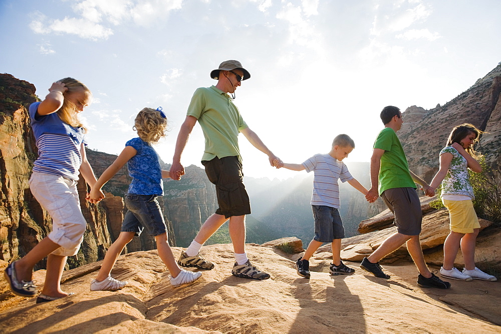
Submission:
[[[468,168],[480,173],[482,168],[475,159],[473,144],[483,133],[473,125],[464,123],[452,129],[447,146],[440,151],[440,169],[430,183],[435,190],[441,182],[442,203],[449,210],[450,233],[443,244],[443,266],[440,276],[470,281],[483,279],[494,281],[497,278],[475,266],[475,242],[480,224],[473,209],[473,188],[469,182]],[[457,251],[461,247],[464,268],[454,267]]]

